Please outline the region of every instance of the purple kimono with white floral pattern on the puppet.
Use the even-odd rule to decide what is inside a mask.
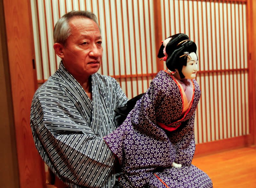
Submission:
[[[212,187],[211,179],[191,164],[195,111],[201,96],[196,80],[191,83],[191,103],[182,113],[180,85],[169,72],[160,71],[124,123],[104,137],[122,165],[121,187]],[[173,162],[182,167],[171,167]]]

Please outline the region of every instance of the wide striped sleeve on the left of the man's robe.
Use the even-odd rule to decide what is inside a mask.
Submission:
[[[114,155],[89,126],[74,122],[72,112],[61,107],[62,112],[56,111],[46,106],[43,98],[34,98],[30,124],[36,148],[44,162],[70,187],[76,184],[98,188],[113,170]]]

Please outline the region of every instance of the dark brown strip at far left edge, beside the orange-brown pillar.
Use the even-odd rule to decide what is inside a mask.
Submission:
[[[12,93],[8,70],[5,38],[3,1],[0,0],[0,185],[5,188],[19,187],[16,141],[12,113]]]

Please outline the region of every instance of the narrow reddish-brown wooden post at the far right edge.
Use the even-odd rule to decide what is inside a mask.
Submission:
[[[247,0],[247,47],[248,47],[248,89],[250,145],[256,144],[256,1]]]

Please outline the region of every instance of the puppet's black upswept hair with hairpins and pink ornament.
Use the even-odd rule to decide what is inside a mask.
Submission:
[[[163,41],[157,57],[166,60],[166,66],[169,70],[178,70],[180,78],[185,76],[182,73],[183,66],[187,66],[188,58],[191,59],[190,53],[196,53],[196,44],[189,40],[186,34],[178,33],[172,35]]]

